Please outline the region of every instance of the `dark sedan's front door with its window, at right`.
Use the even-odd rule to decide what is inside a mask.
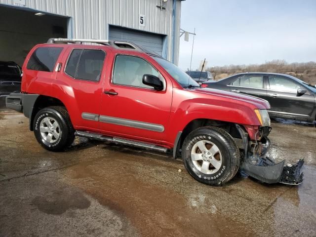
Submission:
[[[283,76],[269,76],[267,83],[270,114],[293,118],[308,119],[314,109],[314,96],[296,81]],[[304,95],[298,89],[307,90]]]

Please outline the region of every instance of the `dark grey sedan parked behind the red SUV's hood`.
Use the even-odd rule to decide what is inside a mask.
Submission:
[[[233,91],[269,101],[272,118],[313,122],[316,116],[316,87],[300,79],[277,73],[240,73],[204,82],[203,87]]]

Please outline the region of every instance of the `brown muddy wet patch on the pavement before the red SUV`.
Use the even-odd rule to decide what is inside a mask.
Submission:
[[[174,190],[146,181],[146,173],[123,164],[124,154],[95,163],[82,162],[67,170],[71,182],[102,205],[125,215],[142,236],[237,236],[251,232],[217,212],[215,205],[200,211],[203,194],[189,198]],[[145,158],[144,158],[145,159]],[[121,162],[122,161],[122,162]],[[151,159],[147,158],[147,164]],[[157,162],[162,162],[159,159]],[[165,161],[166,162],[166,161]],[[137,163],[135,165],[138,165]],[[96,167],[99,168],[96,168]],[[175,169],[175,172],[178,172]],[[145,181],[144,181],[145,179]],[[204,203],[208,205],[208,203]],[[223,222],[226,225],[223,226]]]

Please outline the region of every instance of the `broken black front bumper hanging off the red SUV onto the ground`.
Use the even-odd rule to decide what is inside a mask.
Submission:
[[[274,159],[264,157],[269,150],[269,139],[266,139],[266,143],[262,146],[264,147],[264,152],[262,152],[261,148],[259,152],[258,150],[255,151],[255,148],[252,150],[251,146],[249,149],[248,133],[239,125],[236,126],[244,145],[244,158],[241,163],[241,170],[244,173],[268,184],[299,185],[302,183],[303,173],[301,173],[301,168],[304,164],[303,159],[300,159],[296,164],[287,164],[285,166],[285,160],[275,163]]]

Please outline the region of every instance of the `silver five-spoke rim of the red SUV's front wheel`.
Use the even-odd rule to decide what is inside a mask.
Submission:
[[[223,162],[219,148],[207,140],[194,144],[191,150],[191,159],[197,170],[204,174],[216,173]]]

